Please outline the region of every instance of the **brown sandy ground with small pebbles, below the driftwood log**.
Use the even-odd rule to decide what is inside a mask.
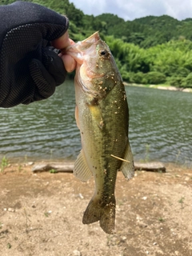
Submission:
[[[0,255],[192,255],[192,170],[118,173],[115,234],[82,224],[94,181],[33,174],[14,165],[0,174]]]

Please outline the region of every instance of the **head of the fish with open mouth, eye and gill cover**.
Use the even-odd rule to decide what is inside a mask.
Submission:
[[[109,46],[102,41],[98,32],[82,42],[70,46],[70,54],[78,63],[76,76],[82,88],[90,94],[103,98],[122,80]]]

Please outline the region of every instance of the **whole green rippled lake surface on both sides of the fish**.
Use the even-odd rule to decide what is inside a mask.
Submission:
[[[192,164],[192,94],[126,86],[134,159]],[[74,85],[28,106],[0,109],[0,159],[74,160],[81,142],[74,119]]]

